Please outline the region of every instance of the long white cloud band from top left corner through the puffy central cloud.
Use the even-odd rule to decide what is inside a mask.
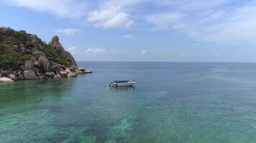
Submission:
[[[81,23],[86,19],[86,21],[95,26],[109,29],[125,28],[134,24],[130,14],[123,11],[123,8],[124,6],[137,4],[139,1],[141,0],[110,0],[99,2],[90,0],[4,0],[1,2],[37,12],[46,12],[58,17],[76,18],[76,20]],[[91,9],[95,10],[92,11]]]

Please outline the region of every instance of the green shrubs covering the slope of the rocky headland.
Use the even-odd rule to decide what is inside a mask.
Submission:
[[[0,27],[0,69],[17,70],[24,65],[25,61],[32,58],[32,54],[22,54],[14,45],[23,44],[26,48],[27,41],[30,41],[32,34],[27,34],[26,31],[15,31],[14,29]],[[40,44],[42,51],[47,57],[56,63],[67,65],[63,58],[56,53],[50,45],[35,36],[37,44]]]

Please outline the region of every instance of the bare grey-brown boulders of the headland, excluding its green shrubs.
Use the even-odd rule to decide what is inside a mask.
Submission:
[[[1,37],[0,37],[1,38]],[[1,40],[1,39],[0,39]],[[1,41],[0,41],[1,42]],[[12,44],[20,54],[29,54],[31,58],[24,61],[18,69],[1,69],[0,82],[32,79],[59,79],[62,77],[77,77],[78,74],[91,73],[84,68],[78,68],[70,52],[65,51],[58,36],[53,36],[49,44],[42,44],[37,36],[30,35],[25,44]],[[44,48],[50,48],[58,56],[61,63],[53,59],[55,56],[46,54]]]

